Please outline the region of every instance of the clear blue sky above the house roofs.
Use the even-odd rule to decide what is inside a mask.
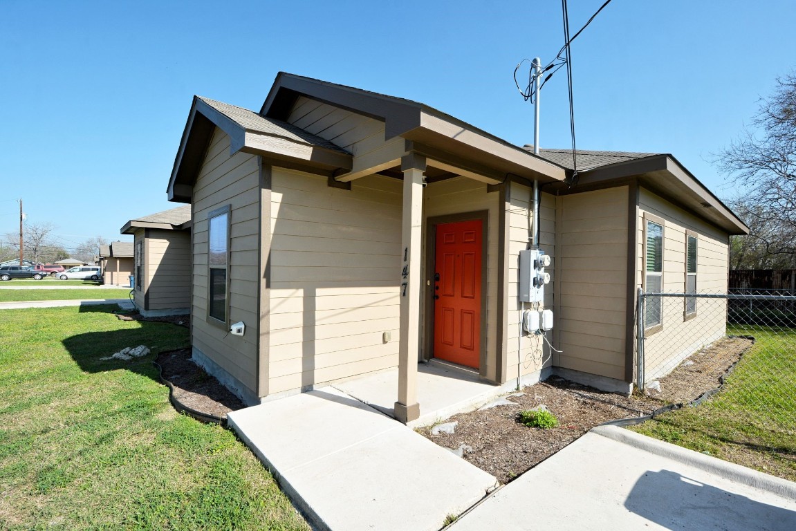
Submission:
[[[575,33],[603,0],[572,0]],[[563,44],[558,0],[0,0],[0,237],[53,222],[67,248],[129,240],[173,208],[166,185],[194,94],[259,110],[280,70],[418,100],[533,141],[512,80]],[[710,154],[796,67],[792,0],[613,0],[572,45],[579,149],[672,153],[714,193]],[[540,145],[567,148],[565,70],[544,87]]]

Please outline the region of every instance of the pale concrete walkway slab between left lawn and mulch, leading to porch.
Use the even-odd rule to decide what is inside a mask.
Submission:
[[[330,387],[229,413],[228,422],[318,529],[440,529],[497,485]]]

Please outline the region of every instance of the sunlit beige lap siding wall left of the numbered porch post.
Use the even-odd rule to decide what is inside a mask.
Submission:
[[[401,201],[395,179],[274,168],[269,392],[397,365]]]

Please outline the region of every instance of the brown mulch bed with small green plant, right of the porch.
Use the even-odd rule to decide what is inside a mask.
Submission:
[[[460,413],[445,422],[457,422],[455,432],[419,432],[506,483],[566,447],[591,428],[610,420],[650,415],[666,404],[696,400],[719,387],[719,378],[751,345],[748,339],[722,339],[685,360],[669,377],[661,378],[656,396],[622,396],[579,385],[558,377],[506,396],[517,405],[501,405]],[[688,363],[692,361],[692,363]],[[544,404],[558,419],[556,428],[526,428],[519,412]],[[463,446],[463,448],[462,448]]]

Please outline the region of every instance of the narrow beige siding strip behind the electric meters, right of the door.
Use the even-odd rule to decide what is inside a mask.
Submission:
[[[544,287],[544,303],[540,308],[552,310],[556,293],[556,275],[554,273],[556,253],[556,198],[548,193],[540,193],[540,234],[539,248],[551,256],[550,267],[545,271],[550,274],[550,283]],[[552,365],[550,349],[540,335],[521,333],[521,310],[519,302],[519,264],[520,251],[531,248],[533,243],[533,189],[513,182],[511,185],[511,202],[509,210],[509,314],[506,316],[506,374],[509,378],[524,376]],[[531,309],[531,303],[525,303],[525,309]],[[547,334],[552,341],[552,334]]]

